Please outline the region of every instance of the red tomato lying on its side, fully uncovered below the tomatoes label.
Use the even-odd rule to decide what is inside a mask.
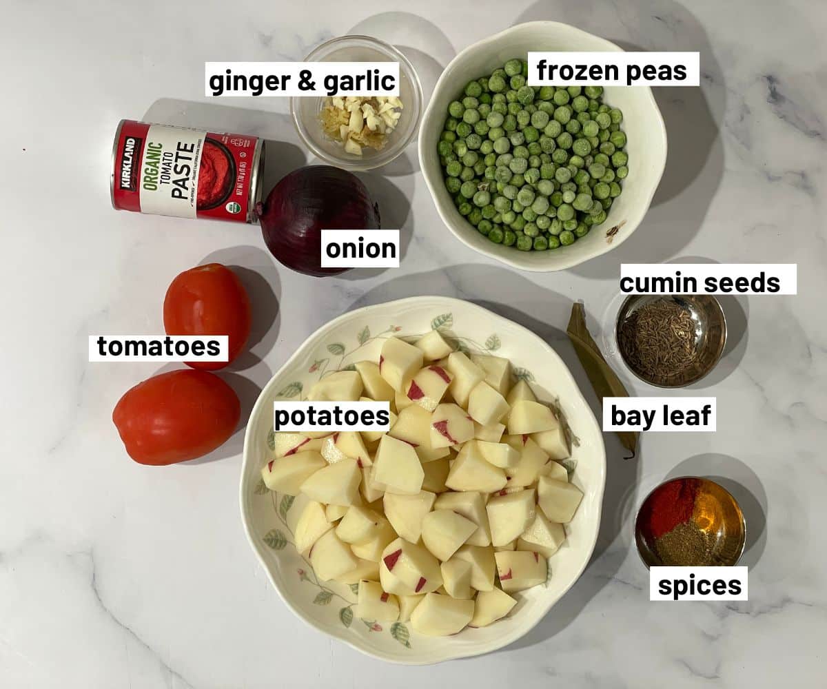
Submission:
[[[241,417],[232,388],[207,371],[170,371],[138,383],[112,412],[129,456],[139,464],[203,457],[227,441]]]

